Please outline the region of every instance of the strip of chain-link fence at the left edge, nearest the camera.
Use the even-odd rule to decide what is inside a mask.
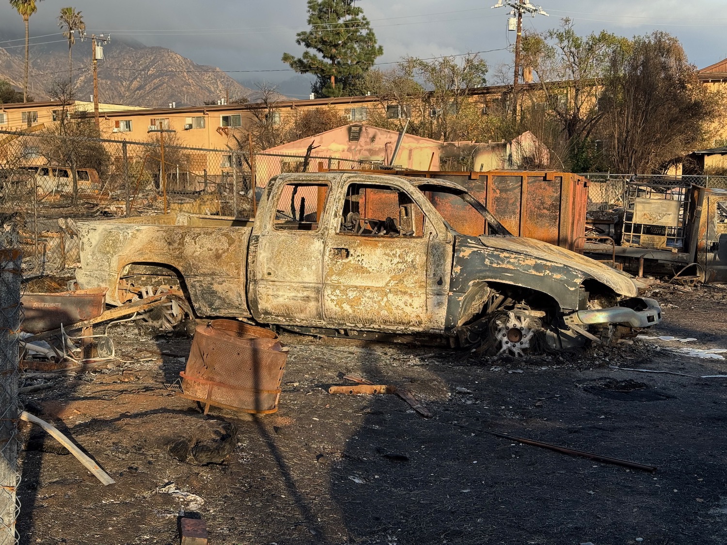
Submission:
[[[0,214],[0,545],[16,543],[20,504],[16,488],[20,482],[17,453],[18,355],[20,339],[19,240],[12,217]]]

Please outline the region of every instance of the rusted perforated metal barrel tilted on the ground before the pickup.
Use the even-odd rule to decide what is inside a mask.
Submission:
[[[235,320],[197,326],[182,376],[182,397],[246,413],[278,410],[288,349],[269,329]]]

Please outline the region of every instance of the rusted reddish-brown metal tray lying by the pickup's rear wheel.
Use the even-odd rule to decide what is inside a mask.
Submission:
[[[41,333],[100,316],[107,288],[63,291],[57,294],[23,294],[23,331]]]

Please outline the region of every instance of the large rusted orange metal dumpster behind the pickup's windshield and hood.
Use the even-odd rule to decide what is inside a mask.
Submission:
[[[513,235],[569,250],[583,249],[588,191],[587,179],[578,174],[546,170],[366,172],[455,182],[483,203]],[[468,222],[478,222],[473,227],[482,227],[483,219],[471,209],[463,209],[455,227],[466,230]]]

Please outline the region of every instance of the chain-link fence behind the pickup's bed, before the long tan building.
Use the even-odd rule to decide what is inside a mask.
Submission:
[[[125,142],[0,130],[0,214],[17,217],[25,275],[63,273],[79,265],[79,219],[165,210],[252,217],[256,193],[277,174],[372,166],[312,155],[251,158],[246,150],[178,145],[164,133]]]

